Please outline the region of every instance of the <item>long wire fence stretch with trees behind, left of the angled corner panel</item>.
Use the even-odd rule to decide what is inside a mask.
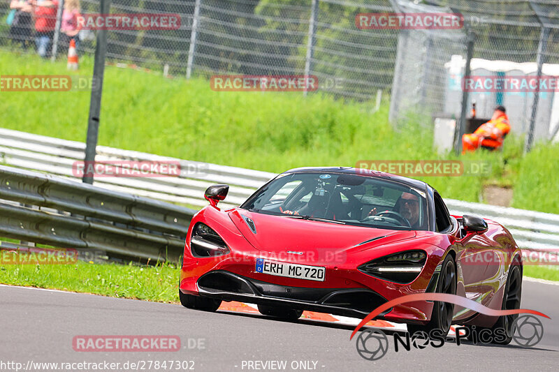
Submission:
[[[0,17],[8,15],[9,3],[2,4]],[[354,23],[360,12],[393,11],[389,0],[112,0],[110,10],[176,13],[181,26],[167,31],[110,31],[109,61],[165,68],[170,75],[185,77],[316,75],[324,82],[321,90],[359,101],[391,88],[398,31],[363,31]],[[99,1],[82,0],[80,12],[99,13]],[[53,25],[56,13],[50,14]],[[33,22],[17,36],[4,24],[0,45],[19,45],[21,40],[25,47],[35,47]],[[82,31],[78,36],[79,51],[94,52],[94,33]],[[68,38],[55,41],[48,54],[64,55]]]

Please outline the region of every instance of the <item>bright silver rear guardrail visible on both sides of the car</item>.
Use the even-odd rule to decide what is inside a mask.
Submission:
[[[57,138],[34,135],[19,131],[11,131],[0,128],[0,162],[17,168],[29,170],[40,170],[64,177],[73,177],[72,163],[82,161],[85,144],[59,140]],[[212,184],[229,184],[229,194],[223,207],[235,207],[241,204],[256,188],[262,186],[275,174],[257,170],[228,167],[210,163],[195,161],[184,161],[177,158],[168,158],[153,154],[145,154],[138,151],[126,151],[111,147],[97,147],[97,160],[99,161],[178,161],[181,165],[179,177],[166,178],[123,178],[123,177],[95,177],[95,185],[115,192],[114,195],[131,193],[142,197],[189,204],[193,206],[205,206],[208,204],[203,199],[205,188]],[[74,177],[75,178],[75,177]],[[72,182],[72,181],[68,181]],[[75,183],[75,182],[74,182]],[[74,184],[73,183],[73,184]],[[59,203],[70,198],[79,198],[79,193],[68,188],[59,190],[52,194]],[[0,198],[3,196],[0,195]],[[130,198],[134,198],[130,196]],[[94,199],[92,199],[94,200]],[[27,204],[33,204],[29,199]],[[494,205],[462,202],[460,200],[445,200],[451,214],[462,216],[463,214],[474,214],[489,218],[502,223],[515,237],[518,246],[534,251],[558,251],[559,250],[559,215],[547,214],[537,211],[523,209],[496,207]],[[168,207],[170,204],[162,203]],[[50,204],[52,205],[52,204]],[[61,205],[61,204],[59,204]],[[45,204],[46,206],[46,204]],[[66,205],[66,207],[68,207]],[[175,207],[175,206],[172,206]],[[92,214],[99,204],[90,204],[89,209],[82,210]],[[167,207],[166,207],[167,208]],[[180,207],[177,207],[180,208]],[[103,208],[101,208],[103,210]],[[118,209],[118,213],[122,211]],[[75,213],[80,213],[75,211]],[[109,218],[108,210],[104,210],[103,218]],[[117,212],[115,212],[117,213]],[[137,212],[138,213],[138,212]],[[145,211],[145,213],[149,213]],[[161,211],[163,213],[163,211]],[[4,214],[6,216],[6,214]],[[122,214],[119,216],[122,217]],[[5,218],[5,217],[4,217]],[[1,221],[1,220],[0,220]],[[119,223],[127,223],[129,220],[121,220]],[[136,221],[136,223],[138,223]],[[140,227],[139,225],[137,225]],[[182,228],[186,225],[182,224]]]

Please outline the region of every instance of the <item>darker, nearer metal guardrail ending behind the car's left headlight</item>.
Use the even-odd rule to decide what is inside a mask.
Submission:
[[[0,165],[0,236],[177,261],[196,211]]]

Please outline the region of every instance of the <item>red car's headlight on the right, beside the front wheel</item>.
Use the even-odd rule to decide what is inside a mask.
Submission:
[[[407,284],[419,276],[426,258],[427,255],[423,251],[395,253],[367,262],[357,269],[386,281]]]

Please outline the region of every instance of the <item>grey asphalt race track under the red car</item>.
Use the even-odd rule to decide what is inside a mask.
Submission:
[[[164,360],[194,361],[194,371],[219,372],[557,371],[559,285],[525,280],[521,306],[551,317],[540,318],[544,338],[533,348],[445,343],[441,348],[395,352],[389,335],[389,351],[372,362],[358,355],[356,338],[349,341],[353,327],[339,322],[283,322],[254,312],[204,313],[175,304],[0,285],[0,371],[15,371],[15,364],[2,364],[7,362],[19,362],[23,367],[28,362],[115,362],[122,366]],[[76,352],[72,341],[78,335],[176,335],[182,349]],[[192,340],[200,346],[194,347]],[[269,364],[272,361],[285,361],[286,368],[264,367],[266,362],[268,367],[277,366]],[[147,366],[144,364],[144,371],[171,371],[169,367],[156,369],[153,362],[151,369]]]

